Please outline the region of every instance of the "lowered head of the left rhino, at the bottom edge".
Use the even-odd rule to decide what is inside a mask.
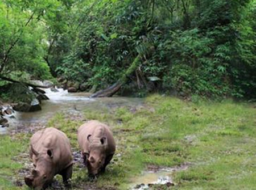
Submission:
[[[24,178],[25,183],[30,188],[34,189],[45,189],[48,184],[51,183],[54,173],[53,173],[53,152],[52,150],[47,150],[46,152],[38,153],[31,146],[32,153],[35,155],[36,164],[34,164],[35,169],[32,170],[31,176]]]

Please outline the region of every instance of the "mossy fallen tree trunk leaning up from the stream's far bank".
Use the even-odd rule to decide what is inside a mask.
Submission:
[[[101,98],[101,97],[111,97],[113,96],[121,87],[122,85],[125,85],[129,81],[129,77],[131,74],[134,73],[134,71],[137,69],[137,67],[140,64],[140,56],[138,55],[131,66],[126,70],[125,74],[122,75],[122,77],[114,83],[114,85],[104,89],[100,90],[93,95],[90,96],[90,98]]]

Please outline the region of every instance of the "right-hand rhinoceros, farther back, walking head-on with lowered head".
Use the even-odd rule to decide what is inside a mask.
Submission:
[[[104,172],[115,153],[115,141],[108,125],[88,121],[80,126],[77,136],[89,176]]]

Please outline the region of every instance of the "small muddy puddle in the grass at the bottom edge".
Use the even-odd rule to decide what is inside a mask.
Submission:
[[[151,188],[164,188],[174,186],[172,174],[175,171],[187,170],[189,164],[185,163],[179,167],[156,167],[149,166],[148,170],[143,171],[141,176],[137,176],[132,180],[130,185],[131,190],[142,190]]]

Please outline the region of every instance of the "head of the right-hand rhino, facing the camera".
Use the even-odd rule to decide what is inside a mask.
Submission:
[[[85,153],[86,166],[88,168],[89,175],[96,176],[103,168],[106,159],[106,147],[108,141],[106,137],[90,138],[88,135],[90,152]]]

